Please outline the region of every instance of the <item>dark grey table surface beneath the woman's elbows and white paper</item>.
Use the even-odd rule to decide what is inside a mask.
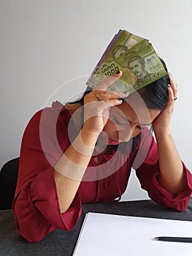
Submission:
[[[82,215],[74,230],[70,232],[55,230],[36,244],[30,244],[20,237],[18,230],[15,228],[12,210],[1,210],[0,256],[70,256],[74,251],[85,214],[88,212],[192,221],[192,199],[188,208],[181,213],[158,206],[152,200],[86,204],[82,206]]]

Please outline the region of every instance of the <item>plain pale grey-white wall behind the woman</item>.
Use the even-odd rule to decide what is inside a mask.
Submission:
[[[18,157],[31,115],[47,99],[84,90],[110,39],[126,29],[150,39],[177,80],[172,131],[192,169],[191,12],[191,0],[0,0],[0,167]],[[133,173],[123,200],[140,198],[147,195]]]

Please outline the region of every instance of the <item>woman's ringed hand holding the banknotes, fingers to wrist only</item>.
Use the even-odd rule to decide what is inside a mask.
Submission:
[[[110,108],[122,103],[121,98],[128,97],[122,91],[107,91],[122,75],[114,74],[99,83],[93,91],[84,97],[84,128],[91,132],[100,133],[110,115]]]

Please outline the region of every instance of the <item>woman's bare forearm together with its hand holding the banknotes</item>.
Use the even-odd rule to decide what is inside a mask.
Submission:
[[[122,103],[119,98],[127,97],[123,92],[106,91],[107,87],[118,80],[122,72],[99,83],[84,98],[84,124],[82,130],[71,146],[67,148],[55,165],[55,184],[61,213],[67,211],[77,192],[82,176],[91,159],[96,140],[107,123],[110,107]],[[99,93],[101,100],[98,100]]]

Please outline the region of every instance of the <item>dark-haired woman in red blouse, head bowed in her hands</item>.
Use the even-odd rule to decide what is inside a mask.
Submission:
[[[156,203],[174,211],[187,207],[192,176],[170,131],[177,84],[166,75],[130,95],[107,91],[121,75],[88,89],[78,102],[54,102],[28,123],[13,202],[26,240],[72,230],[82,203],[120,200],[131,167]]]

